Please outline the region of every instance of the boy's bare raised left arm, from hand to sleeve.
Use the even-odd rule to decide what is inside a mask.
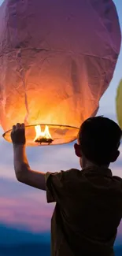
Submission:
[[[11,138],[13,141],[13,162],[17,180],[24,184],[28,184],[31,187],[36,187],[45,191],[45,173],[32,171],[28,164],[25,150],[26,139],[24,124],[13,126]]]

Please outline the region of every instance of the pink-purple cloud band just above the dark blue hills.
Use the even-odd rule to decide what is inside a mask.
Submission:
[[[52,207],[31,200],[16,198],[1,198],[0,221],[13,226],[22,226],[33,232],[45,232],[50,230],[50,217]]]

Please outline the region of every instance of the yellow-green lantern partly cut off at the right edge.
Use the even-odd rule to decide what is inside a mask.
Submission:
[[[117,94],[116,94],[116,117],[120,128],[122,129],[122,80],[117,87]]]

